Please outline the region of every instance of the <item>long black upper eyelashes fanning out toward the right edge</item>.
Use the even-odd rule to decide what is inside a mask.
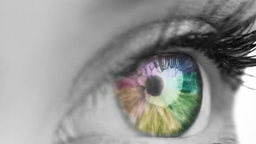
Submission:
[[[245,74],[243,69],[256,66],[256,55],[247,56],[256,50],[256,31],[250,32],[254,21],[255,17],[252,17],[228,31],[223,31],[223,27],[226,27],[223,25],[216,33],[183,35],[161,44],[161,49],[182,46],[204,52],[205,56],[217,63],[223,74],[229,76],[223,78],[228,79],[230,84],[242,82],[239,76]],[[236,88],[237,85],[231,86]]]

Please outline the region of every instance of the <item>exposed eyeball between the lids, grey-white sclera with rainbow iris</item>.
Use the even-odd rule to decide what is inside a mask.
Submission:
[[[143,58],[132,72],[102,82],[65,117],[57,141],[84,137],[89,142],[95,136],[92,141],[100,142],[98,135],[183,139],[200,133],[208,124],[211,94],[207,74],[197,62],[202,59],[186,54],[192,51]]]

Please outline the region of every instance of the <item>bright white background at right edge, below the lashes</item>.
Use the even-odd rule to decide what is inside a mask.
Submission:
[[[256,76],[256,67],[247,68],[246,73]],[[243,80],[247,81],[245,85],[256,89],[256,78],[245,76]],[[241,86],[236,94],[234,112],[238,140],[241,144],[256,143],[256,90]]]

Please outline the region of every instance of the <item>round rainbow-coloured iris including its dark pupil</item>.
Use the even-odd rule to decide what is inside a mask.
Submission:
[[[150,57],[117,81],[117,98],[143,133],[179,136],[194,123],[202,101],[201,76],[193,58],[181,53]]]

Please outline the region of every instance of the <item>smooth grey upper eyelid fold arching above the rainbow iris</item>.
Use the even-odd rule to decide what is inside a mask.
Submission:
[[[185,27],[185,28],[184,28]],[[131,57],[139,57],[141,53],[150,55],[159,49],[159,43],[188,33],[203,33],[214,31],[208,23],[197,19],[152,22],[121,35],[106,46],[106,49],[96,53],[91,61],[86,63],[75,81],[67,98],[73,106],[88,91],[92,91],[98,83],[111,79],[110,73],[121,71],[132,64]],[[121,62],[121,63],[120,63]],[[122,65],[122,67],[118,67]],[[90,85],[86,85],[90,83]]]

